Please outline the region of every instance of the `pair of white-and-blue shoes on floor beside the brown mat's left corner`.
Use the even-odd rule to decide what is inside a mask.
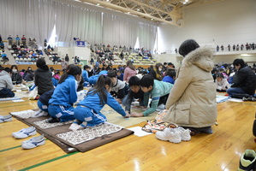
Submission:
[[[27,127],[27,128],[21,129],[18,132],[12,133],[12,135],[15,139],[25,139],[29,136],[35,135],[36,133],[37,131],[35,127]],[[23,141],[21,144],[21,147],[23,149],[33,149],[43,144],[45,144],[45,136],[40,135],[38,137],[33,137],[31,139]]]

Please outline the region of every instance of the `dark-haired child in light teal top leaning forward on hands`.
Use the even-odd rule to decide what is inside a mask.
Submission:
[[[151,96],[152,102],[150,109],[147,109],[143,113],[132,113],[133,117],[141,117],[152,114],[160,104],[164,104],[167,101],[170,90],[173,84],[164,81],[154,80],[152,76],[146,74],[140,80],[141,90],[144,91],[144,104],[147,106],[149,97]]]

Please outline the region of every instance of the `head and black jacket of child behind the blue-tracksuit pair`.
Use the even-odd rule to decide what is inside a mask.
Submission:
[[[39,58],[36,65],[38,68],[34,74],[34,82],[38,86],[39,95],[42,95],[45,91],[50,91],[54,88],[51,81],[52,74],[44,58]]]

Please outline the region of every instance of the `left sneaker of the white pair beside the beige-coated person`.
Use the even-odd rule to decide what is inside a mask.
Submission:
[[[157,139],[163,141],[170,141],[171,143],[181,143],[181,132],[174,128],[165,128],[163,132],[158,131],[156,133]]]

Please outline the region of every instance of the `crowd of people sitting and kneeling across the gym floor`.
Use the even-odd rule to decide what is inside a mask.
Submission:
[[[40,96],[36,116],[50,115],[49,123],[74,121],[69,127],[71,130],[104,123],[106,117],[101,113],[104,104],[123,117],[151,115],[164,106],[161,108],[166,109],[163,121],[182,128],[166,127],[156,136],[174,143],[179,140],[173,137],[180,139],[182,132],[212,133],[211,126],[217,119],[216,91],[255,100],[255,64],[251,68],[242,59],[235,59],[232,64],[214,65],[213,51],[199,47],[193,39],[184,41],[179,53],[184,59],[178,69],[171,62],[135,68],[128,60],[126,65],[117,68],[112,65],[99,68],[96,64],[93,68],[85,65],[82,70],[69,64],[60,76],[59,71],[48,68],[44,58],[37,59],[34,72],[31,68],[20,72],[15,65],[0,67],[0,97],[14,97],[11,90],[15,84],[33,80]],[[91,88],[74,107],[77,91],[85,87]],[[134,100],[139,106],[132,106]],[[134,112],[133,108],[144,110]]]

